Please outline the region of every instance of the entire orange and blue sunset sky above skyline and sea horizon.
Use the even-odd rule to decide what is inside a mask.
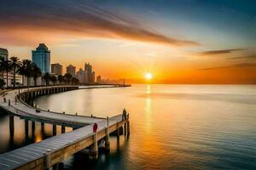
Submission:
[[[2,0],[0,47],[51,63],[85,62],[103,78],[151,83],[256,83],[253,0]],[[66,69],[64,69],[66,70]]]

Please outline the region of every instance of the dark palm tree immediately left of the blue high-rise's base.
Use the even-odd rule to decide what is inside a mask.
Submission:
[[[32,77],[32,61],[29,59],[23,59],[20,66],[19,73],[26,77],[27,88],[29,87],[30,77]]]

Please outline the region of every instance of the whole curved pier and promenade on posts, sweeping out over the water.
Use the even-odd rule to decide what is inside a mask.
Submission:
[[[84,88],[107,88],[84,87]],[[108,88],[113,88],[109,86]],[[69,90],[79,89],[78,86],[53,86],[44,88],[30,88],[9,91],[1,96],[0,107],[9,112],[10,133],[14,133],[14,116],[25,119],[26,131],[28,131],[28,121],[41,122],[53,125],[55,135],[56,125],[61,125],[60,135],[44,139],[35,144],[29,144],[17,150],[12,150],[0,155],[0,169],[48,169],[49,167],[60,167],[60,163],[68,156],[72,156],[79,150],[89,147],[90,159],[98,156],[98,142],[105,141],[105,149],[109,150],[109,133],[116,132],[119,139],[119,132],[125,129],[125,135],[129,136],[130,123],[129,115],[118,114],[108,118],[92,116],[75,116],[67,113],[56,113],[51,111],[36,111],[26,104],[29,99],[44,94],[55,94]],[[40,112],[39,112],[40,111]],[[92,126],[97,124],[96,132]],[[124,126],[124,128],[122,128]],[[65,133],[65,127],[73,127],[73,131]],[[80,127],[80,128],[79,128]],[[32,126],[32,130],[34,127]],[[27,132],[26,132],[27,133]]]

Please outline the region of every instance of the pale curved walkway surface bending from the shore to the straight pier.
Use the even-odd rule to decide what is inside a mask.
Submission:
[[[66,86],[68,87],[68,86]],[[89,88],[113,88],[114,86],[84,86],[79,89],[89,89]],[[45,87],[46,88],[46,87]],[[51,87],[49,87],[51,88]],[[57,87],[55,87],[57,88]],[[20,94],[33,91],[37,88],[21,89]],[[42,89],[42,88],[38,88]],[[95,122],[102,121],[101,117],[90,117],[90,116],[75,116],[72,114],[63,114],[53,111],[40,111],[37,113],[35,108],[32,108],[29,105],[26,105],[24,102],[17,100],[15,102],[15,96],[19,94],[18,89],[6,92],[4,95],[0,96],[0,107],[8,111],[9,113],[20,116],[20,118],[26,118],[27,120],[35,122],[46,122],[56,125],[63,125],[68,127],[81,127],[89,125]],[[4,103],[3,98],[6,99]],[[9,105],[10,100],[10,105]],[[78,118],[79,117],[79,118]]]

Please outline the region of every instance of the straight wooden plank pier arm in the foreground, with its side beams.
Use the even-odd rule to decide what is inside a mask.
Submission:
[[[109,118],[109,133],[112,133],[124,123],[122,115]],[[97,140],[100,140],[106,136],[107,120],[97,122],[97,125]],[[88,125],[69,133],[62,133],[41,142],[3,153],[0,155],[0,169],[44,169],[47,156],[50,157],[49,167],[52,167],[68,156],[72,156],[79,150],[93,144],[93,135],[92,125]]]

